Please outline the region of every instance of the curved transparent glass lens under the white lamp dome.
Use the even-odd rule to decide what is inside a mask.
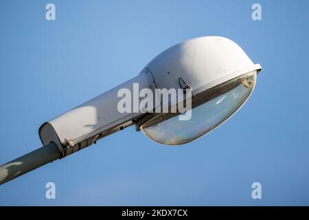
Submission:
[[[160,117],[157,115],[141,125],[141,131],[161,144],[178,145],[192,142],[236,113],[251,95],[255,80],[256,71],[229,80],[214,87],[216,94],[211,94],[211,99],[207,102],[194,107],[194,100],[192,100],[194,108],[190,120],[179,120],[179,115],[176,115],[157,123],[157,118]],[[209,92],[205,91],[204,96],[209,96]]]

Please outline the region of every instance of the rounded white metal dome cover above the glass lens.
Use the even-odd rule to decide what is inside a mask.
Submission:
[[[221,36],[204,36],[165,50],[146,66],[159,88],[180,88],[179,78],[193,94],[260,70],[233,41]]]

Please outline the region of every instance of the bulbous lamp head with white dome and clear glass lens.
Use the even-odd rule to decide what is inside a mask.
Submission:
[[[184,83],[192,92],[190,120],[179,120],[177,113],[151,113],[137,122],[150,139],[168,145],[191,142],[230,118],[251,95],[261,69],[236,43],[219,36],[174,45],[146,68],[158,88]]]

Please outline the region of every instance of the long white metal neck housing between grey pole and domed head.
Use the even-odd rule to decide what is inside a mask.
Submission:
[[[133,92],[133,83],[139,84],[139,89],[150,88],[155,90],[155,83],[148,72],[142,72],[137,77],[128,80],[106,93],[67,111],[53,120],[46,122],[39,129],[43,144],[55,142],[65,155],[74,153],[95,142],[104,132],[118,131],[124,126],[133,124],[132,120],[143,113],[119,113],[117,104],[121,98],[117,97],[119,89],[129,89]]]

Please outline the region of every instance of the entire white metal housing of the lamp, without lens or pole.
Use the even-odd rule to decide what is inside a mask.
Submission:
[[[191,39],[159,54],[137,77],[46,122],[39,134],[43,144],[55,142],[60,151],[65,148],[65,155],[69,155],[104,135],[134,124],[134,120],[143,115],[117,111],[119,89],[132,91],[133,83],[139,83],[139,89],[179,89],[179,78],[183,78],[195,95],[260,69],[260,65],[254,65],[247,54],[229,39],[220,36]]]

